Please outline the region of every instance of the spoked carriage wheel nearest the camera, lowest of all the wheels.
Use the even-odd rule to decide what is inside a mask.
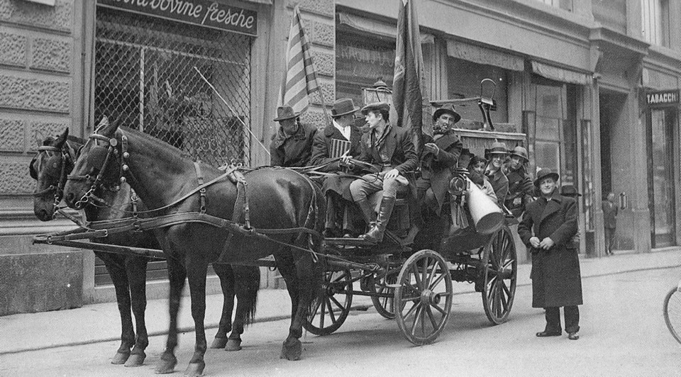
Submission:
[[[452,277],[440,254],[421,250],[406,260],[394,302],[397,325],[409,342],[420,346],[438,337],[452,308]]]

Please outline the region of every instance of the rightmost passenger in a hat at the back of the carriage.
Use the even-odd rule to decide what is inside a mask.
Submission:
[[[509,179],[509,195],[506,196],[504,206],[513,213],[514,218],[519,218],[525,211],[525,206],[534,200],[534,185],[526,166],[528,161],[524,147],[518,146],[511,151],[511,164],[506,175]]]

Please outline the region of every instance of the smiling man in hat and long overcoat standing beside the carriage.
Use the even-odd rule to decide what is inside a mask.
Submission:
[[[565,315],[568,339],[580,339],[582,276],[577,249],[571,244],[577,234],[577,201],[558,193],[558,174],[541,169],[534,182],[540,198],[529,203],[518,225],[521,240],[532,252],[532,307],[546,310],[546,327],[537,337],[557,337],[560,307]]]

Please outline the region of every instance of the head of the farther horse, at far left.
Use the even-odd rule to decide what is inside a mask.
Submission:
[[[57,138],[47,137],[28,165],[29,174],[36,181],[33,213],[43,221],[54,218],[62,200],[66,176],[73,169],[75,152],[67,142],[68,136],[67,128]]]

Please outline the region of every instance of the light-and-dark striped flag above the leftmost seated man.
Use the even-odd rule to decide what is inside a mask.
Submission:
[[[319,91],[319,84],[310,53],[310,43],[305,36],[300,10],[296,5],[286,47],[286,73],[279,91],[278,106],[291,106],[296,113],[304,111],[310,104],[309,95],[314,91]],[[321,91],[319,94],[321,96]]]

